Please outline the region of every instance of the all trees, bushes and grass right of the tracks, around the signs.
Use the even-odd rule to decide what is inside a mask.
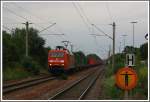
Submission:
[[[136,66],[134,70],[138,75],[137,86],[129,91],[129,99],[147,99],[148,98],[148,44],[144,43],[140,48],[134,48],[136,55]],[[127,46],[126,52],[131,52],[132,47]],[[125,51],[124,50],[124,51]],[[124,52],[123,51],[123,52]],[[115,68],[112,69],[111,57],[107,63],[105,80],[103,82],[103,99],[124,99],[124,91],[115,84],[114,73],[119,68],[125,66],[125,54],[119,53],[115,55]]]

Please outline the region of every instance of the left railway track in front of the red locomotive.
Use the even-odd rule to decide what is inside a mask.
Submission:
[[[18,89],[23,89],[26,87],[31,87],[37,84],[40,84],[42,82],[46,82],[49,80],[54,80],[56,79],[56,77],[51,77],[51,76],[46,76],[46,77],[41,77],[41,78],[36,78],[36,79],[32,79],[32,80],[28,80],[28,81],[23,81],[23,82],[19,82],[19,83],[14,83],[14,84],[7,84],[3,86],[3,94],[12,92],[12,91],[16,91]]]

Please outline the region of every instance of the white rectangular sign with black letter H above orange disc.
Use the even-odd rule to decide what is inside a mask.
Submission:
[[[129,67],[135,66],[135,55],[134,54],[126,54],[126,65]]]

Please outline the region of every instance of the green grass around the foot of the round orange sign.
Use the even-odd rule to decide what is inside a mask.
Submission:
[[[148,96],[148,68],[137,66],[138,82],[137,86],[129,91],[130,99],[147,99]],[[107,68],[106,78],[103,82],[103,96],[105,99],[123,99],[124,91],[115,85],[115,77],[112,69]]]

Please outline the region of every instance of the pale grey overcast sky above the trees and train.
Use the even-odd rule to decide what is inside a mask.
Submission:
[[[22,23],[26,21],[32,23],[29,27],[39,31],[56,23],[39,33],[46,41],[45,46],[51,48],[68,40],[73,44],[73,51],[81,50],[86,55],[96,53],[107,58],[112,40],[91,34],[104,35],[97,27],[112,37],[113,22],[116,24],[116,53],[123,50],[124,41],[126,46],[133,44],[132,21],[137,21],[134,26],[135,47],[147,42],[144,36],[148,33],[148,2],[3,2],[2,9],[2,27],[7,31],[24,28]]]

